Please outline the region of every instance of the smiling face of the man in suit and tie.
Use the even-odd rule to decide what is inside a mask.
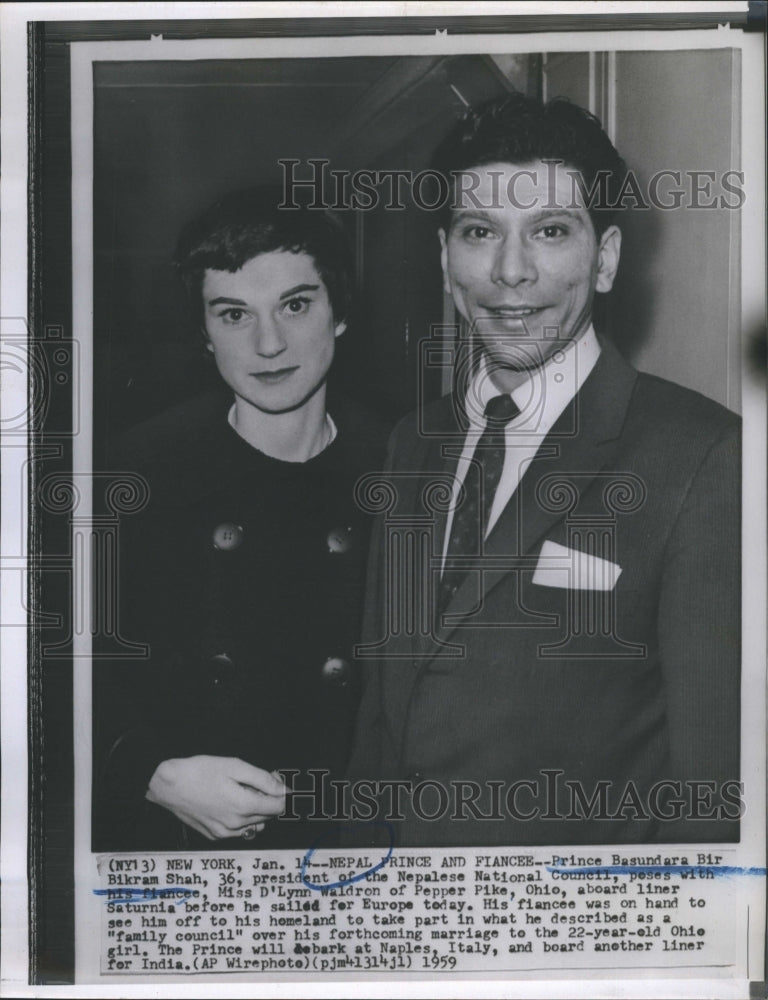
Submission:
[[[611,226],[598,242],[567,170],[540,161],[475,167],[460,176],[466,193],[448,233],[440,230],[445,288],[502,391],[582,336],[595,291],[613,285],[621,234]]]

